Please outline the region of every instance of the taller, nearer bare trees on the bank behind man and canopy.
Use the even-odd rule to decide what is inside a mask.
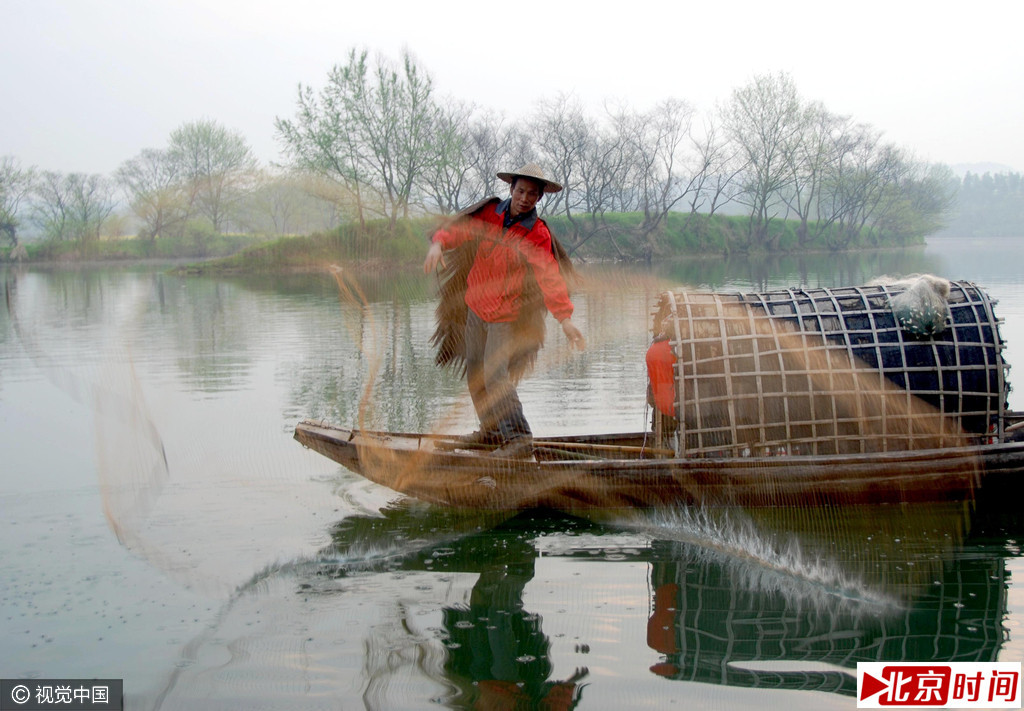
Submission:
[[[336,183],[360,222],[415,211],[451,213],[499,192],[495,173],[532,160],[565,190],[572,247],[607,236],[610,213],[642,215],[630,241],[650,257],[667,215],[731,205],[750,216],[742,251],[774,250],[770,225],[800,222],[797,248],[903,243],[934,231],[951,201],[947,169],[915,160],[882,132],[803,99],[785,74],[756,77],[714,117],[685,100],[589,115],[569,95],[540,101],[525,121],[436,96],[412,55],[399,62],[352,50],[295,116],[276,121],[293,167]]]

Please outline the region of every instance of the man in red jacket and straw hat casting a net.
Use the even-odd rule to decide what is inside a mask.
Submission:
[[[562,186],[545,177],[536,163],[498,173],[509,183],[510,197],[485,204],[468,218],[434,234],[423,270],[444,263],[444,251],[476,243],[466,277],[466,379],[480,429],[462,438],[467,445],[499,445],[494,455],[528,459],[534,436],[522,412],[510,364],[523,347],[514,324],[524,301],[524,285],[532,279],[544,305],[561,324],[572,347],[585,341],[572,323],[572,302],[552,248],[548,225],[537,214],[545,194]],[[497,201],[497,198],[494,199]]]

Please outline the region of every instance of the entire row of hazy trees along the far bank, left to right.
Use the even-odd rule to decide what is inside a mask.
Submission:
[[[746,217],[727,249],[841,250],[902,244],[935,231],[950,173],[883,140],[880,130],[800,96],[785,74],[755,77],[714,115],[668,98],[649,109],[572,95],[542,99],[527,119],[438,95],[404,52],[351,50],[318,88],[299,85],[278,118],[282,165],[262,167],[244,136],[216,121],[182,125],[112,176],[0,162],[0,237],[26,226],[53,241],[100,237],[127,205],[140,239],[225,231],[294,234],[342,223],[451,214],[505,190],[496,173],[535,161],[564,185],[546,215],[572,250],[600,242],[618,256],[666,253],[672,213],[699,235],[716,213]],[[613,216],[634,213],[623,233]],[[773,223],[795,220],[795,244]]]

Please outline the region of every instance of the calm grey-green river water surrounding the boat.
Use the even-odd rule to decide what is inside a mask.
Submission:
[[[584,265],[588,349],[549,322],[520,395],[538,434],[642,428],[650,307],[680,285],[968,279],[1014,365],[1022,256]],[[474,425],[430,279],[340,267],[0,271],[0,676],[122,678],[130,709],[849,709],[857,662],[1024,658],[1012,512],[455,514],[304,450],[306,417]]]

